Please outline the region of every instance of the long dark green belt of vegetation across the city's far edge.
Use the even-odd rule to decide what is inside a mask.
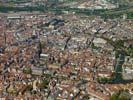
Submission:
[[[73,0],[69,0],[73,1]],[[76,0],[74,0],[76,1]],[[85,14],[88,16],[98,15],[102,16],[103,18],[121,18],[123,14],[127,14],[128,19],[133,19],[133,6],[126,6],[121,8],[116,8],[112,10],[102,9],[102,10],[89,10],[89,9],[79,9],[79,8],[68,8],[68,7],[57,7],[57,8],[49,8],[44,6],[36,6],[36,7],[14,7],[12,6],[3,6],[0,5],[0,12],[8,13],[9,11],[19,12],[19,11],[50,11],[57,14],[62,13],[62,11],[70,11],[75,12],[76,14]]]

